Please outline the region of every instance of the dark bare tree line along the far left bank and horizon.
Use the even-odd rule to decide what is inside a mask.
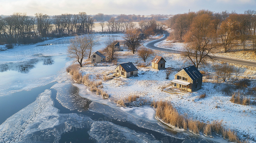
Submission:
[[[107,26],[109,32],[124,31],[131,21],[160,19],[161,15],[152,15],[148,18],[140,15],[104,15],[98,13],[94,16],[86,12],[78,14],[64,13],[49,16],[43,13],[35,13],[35,16],[27,16],[26,13],[16,12],[9,16],[0,16],[0,44],[12,47],[13,44],[29,44],[46,40],[47,37],[62,37],[74,34],[91,33],[95,21]],[[107,21],[107,23],[106,23]]]

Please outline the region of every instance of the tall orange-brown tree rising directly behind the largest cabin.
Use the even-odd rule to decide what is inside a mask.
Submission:
[[[205,57],[216,47],[216,35],[208,14],[194,18],[191,28],[185,35],[184,57],[190,60],[196,68],[204,62]]]

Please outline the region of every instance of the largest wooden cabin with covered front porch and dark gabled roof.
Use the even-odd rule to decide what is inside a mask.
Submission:
[[[202,87],[203,75],[194,66],[183,68],[178,72],[174,80],[171,80],[172,88],[179,88],[181,91],[194,92]]]

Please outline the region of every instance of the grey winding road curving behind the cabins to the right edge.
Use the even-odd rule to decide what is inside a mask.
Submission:
[[[146,44],[146,47],[151,48],[151,49],[155,49],[155,50],[160,50],[160,51],[166,51],[166,52],[170,52],[170,53],[176,53],[176,54],[182,54],[182,51],[178,51],[178,50],[172,50],[172,49],[167,49],[167,48],[161,48],[161,47],[156,47],[154,46],[156,43],[165,40],[167,37],[169,36],[168,34],[165,34],[164,37],[149,42],[148,44]],[[211,56],[212,59],[214,60],[218,60],[218,61],[224,61],[224,62],[229,62],[229,63],[238,63],[238,64],[243,64],[243,65],[249,65],[249,66],[255,66],[256,67],[256,62],[253,61],[247,61],[247,60],[240,60],[240,59],[233,59],[233,58],[226,58],[226,57],[220,57],[220,56]]]

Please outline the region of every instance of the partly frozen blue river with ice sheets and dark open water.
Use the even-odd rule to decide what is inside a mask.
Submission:
[[[98,35],[101,45],[95,51],[113,36],[122,38]],[[91,92],[92,100],[80,97],[65,72],[72,64],[66,56],[70,38],[0,52],[0,143],[213,142],[96,102],[100,97]],[[146,115],[149,108],[136,109]]]

